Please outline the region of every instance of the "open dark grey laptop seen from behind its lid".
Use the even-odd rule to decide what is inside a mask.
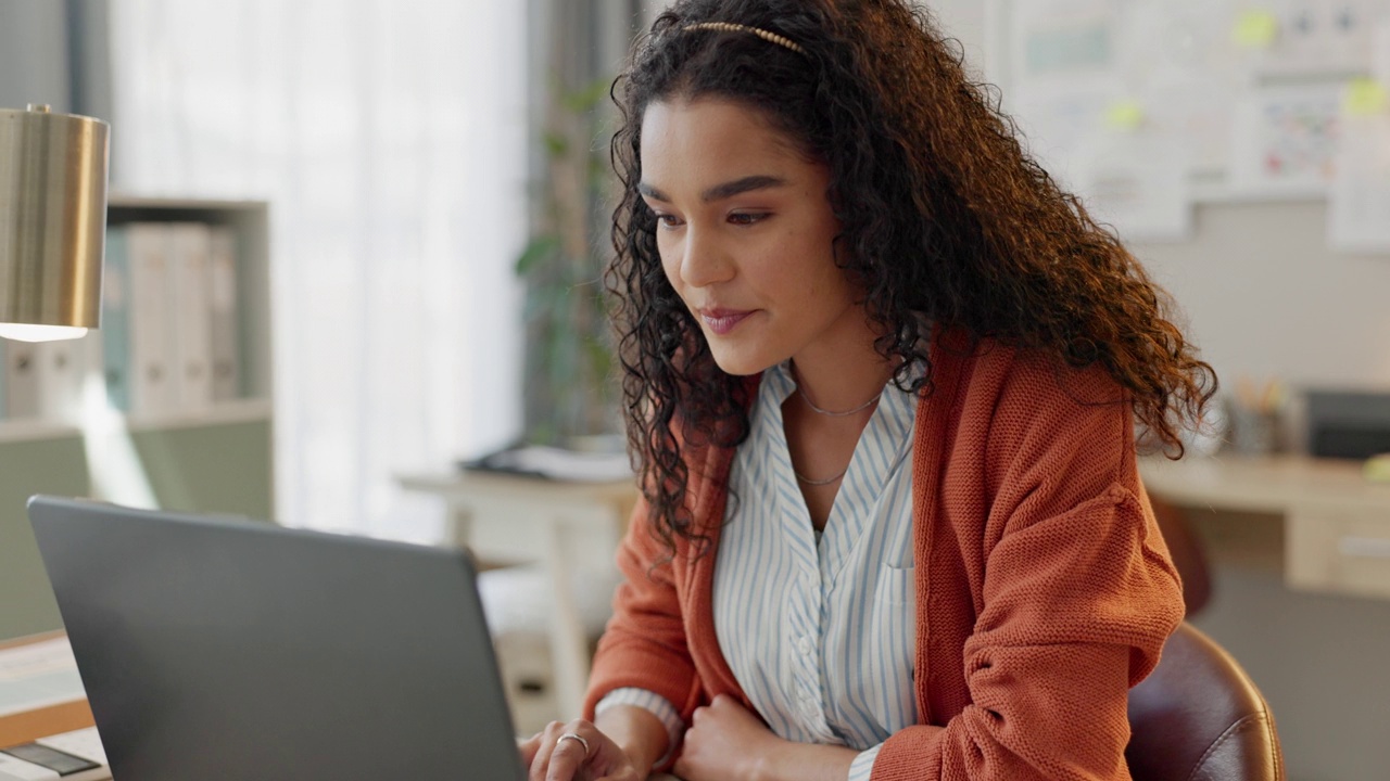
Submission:
[[[117,781],[525,777],[461,550],[36,496]]]

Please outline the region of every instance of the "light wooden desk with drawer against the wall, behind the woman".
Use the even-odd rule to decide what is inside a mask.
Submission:
[[[1390,484],[1307,456],[1143,459],[1144,485],[1190,510],[1277,516],[1293,589],[1390,599]]]

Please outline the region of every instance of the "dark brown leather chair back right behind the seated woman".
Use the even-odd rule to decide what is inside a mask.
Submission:
[[[1134,781],[1284,781],[1275,717],[1240,664],[1190,624],[1129,698]]]

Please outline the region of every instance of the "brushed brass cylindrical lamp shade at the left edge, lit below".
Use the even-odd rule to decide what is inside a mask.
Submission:
[[[101,321],[108,126],[0,108],[0,336],[75,339]]]

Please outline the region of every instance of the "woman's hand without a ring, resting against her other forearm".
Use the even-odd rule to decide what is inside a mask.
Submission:
[[[784,742],[733,698],[720,695],[695,709],[674,773],[684,781],[752,780]]]

